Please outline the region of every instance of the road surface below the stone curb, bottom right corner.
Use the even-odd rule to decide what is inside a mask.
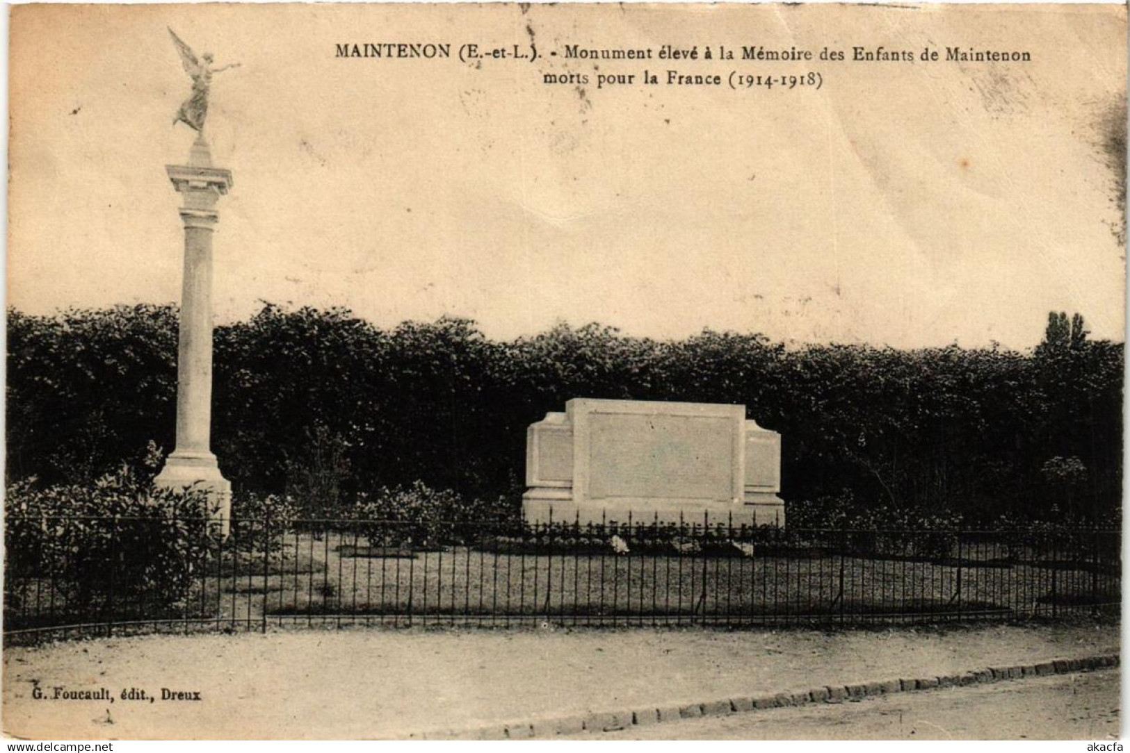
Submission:
[[[1093,739],[1119,735],[1119,672],[1033,677],[582,735],[600,739]]]

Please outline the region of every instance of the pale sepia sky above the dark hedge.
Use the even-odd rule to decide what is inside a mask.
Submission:
[[[174,303],[191,132],[165,30],[242,67],[208,130],[215,307],[443,314],[494,338],[627,334],[1029,348],[1050,309],[1123,339],[1105,7],[58,6],[14,10],[8,301]],[[529,29],[527,28],[529,26]],[[819,91],[596,87],[592,62],[339,60],[338,43],[1029,50],[1031,63],[603,61],[800,73]],[[942,52],[944,54],[944,52]],[[584,72],[584,87],[544,72]],[[583,91],[581,90],[583,89]]]

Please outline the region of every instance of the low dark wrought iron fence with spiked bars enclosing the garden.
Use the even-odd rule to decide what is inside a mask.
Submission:
[[[5,639],[271,625],[846,625],[1116,614],[1120,532],[6,519]]]

